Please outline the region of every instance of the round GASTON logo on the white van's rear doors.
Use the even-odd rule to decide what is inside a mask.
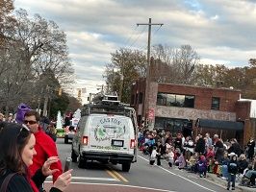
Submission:
[[[96,141],[111,140],[112,138],[119,138],[126,132],[125,120],[120,121],[115,118],[101,118],[95,119],[96,125],[94,129],[94,136]]]

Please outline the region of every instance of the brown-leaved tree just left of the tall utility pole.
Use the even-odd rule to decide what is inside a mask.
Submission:
[[[121,101],[129,103],[131,84],[145,76],[146,57],[140,51],[119,49],[111,54],[111,63],[106,64],[104,78],[110,92],[116,91]]]

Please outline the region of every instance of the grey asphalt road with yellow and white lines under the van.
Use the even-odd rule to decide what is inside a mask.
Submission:
[[[71,144],[64,144],[64,139],[59,138],[57,147],[64,163],[65,157],[70,156]],[[138,162],[132,164],[128,173],[122,172],[120,165],[103,165],[93,162],[90,163],[89,169],[79,169],[77,163],[72,163],[72,182],[66,191],[226,191],[222,186],[201,179],[185,170],[169,169],[165,160],[163,160],[162,166],[150,166],[147,158],[140,152]],[[45,182],[46,189],[51,186],[50,180],[47,179]]]

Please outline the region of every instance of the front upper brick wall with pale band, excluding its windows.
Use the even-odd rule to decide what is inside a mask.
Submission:
[[[154,116],[189,119],[193,121],[197,118],[236,121],[234,106],[240,98],[240,91],[157,83],[151,83],[149,91],[149,110],[154,110]],[[194,95],[194,108],[157,106],[158,92]],[[211,109],[212,97],[220,98],[219,110]],[[155,118],[150,119],[149,129],[154,128],[154,123]]]

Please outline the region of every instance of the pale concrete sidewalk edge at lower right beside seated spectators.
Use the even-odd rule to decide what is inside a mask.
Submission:
[[[215,183],[217,183],[217,184],[219,184],[219,185],[221,185],[221,186],[223,186],[225,188],[227,186],[227,181],[223,180],[221,178],[218,178],[217,175],[215,175],[215,174],[207,173],[206,180],[210,180],[212,182],[215,182]],[[236,182],[236,187],[235,188],[239,189],[240,191],[243,191],[243,192],[255,192],[256,191],[256,188],[250,188],[250,187],[246,187],[246,186],[241,186],[241,185],[239,185],[238,182]]]

